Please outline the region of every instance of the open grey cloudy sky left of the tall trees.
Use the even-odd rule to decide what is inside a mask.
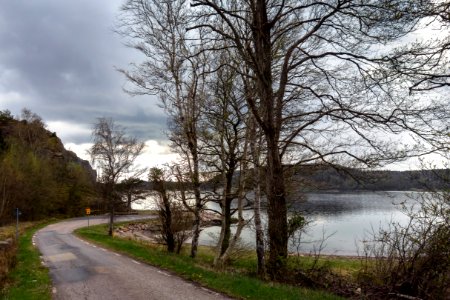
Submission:
[[[169,157],[166,117],[151,96],[131,97],[115,67],[139,61],[113,32],[123,0],[0,0],[0,110],[40,115],[87,158],[92,125],[112,117],[147,141],[149,164]]]

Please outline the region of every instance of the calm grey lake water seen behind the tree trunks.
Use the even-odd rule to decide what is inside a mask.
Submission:
[[[410,197],[417,195],[410,192],[310,193],[306,202],[291,207],[291,210],[303,212],[311,223],[300,243],[290,241],[289,250],[310,253],[322,247],[323,254],[357,255],[358,248],[362,249],[362,240],[373,230],[386,226],[391,220],[406,223],[408,217],[396,204],[404,201],[411,204]],[[246,219],[250,220],[252,215],[251,211],[245,212]],[[218,226],[205,228],[200,243],[214,245],[219,230]],[[244,229],[241,237],[247,247],[254,247],[255,233],[251,225]]]

